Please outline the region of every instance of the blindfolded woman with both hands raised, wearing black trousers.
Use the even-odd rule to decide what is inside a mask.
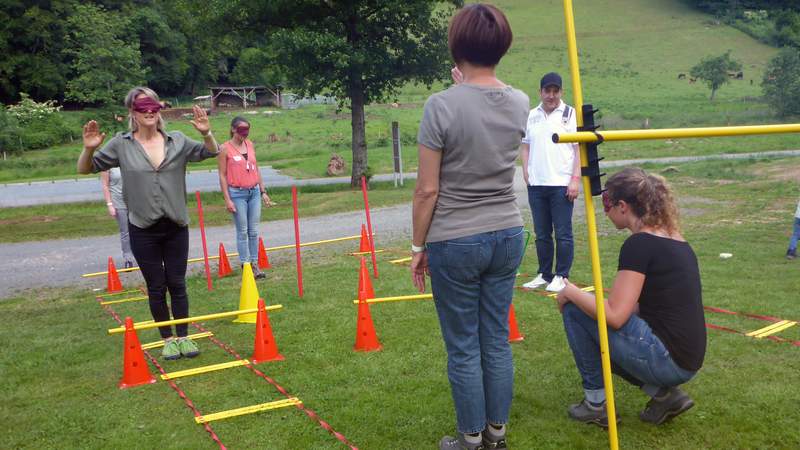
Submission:
[[[189,213],[186,209],[186,166],[219,153],[206,112],[193,107],[194,128],[202,142],[178,131],[167,132],[158,95],[136,87],[125,97],[128,128],[103,144],[105,133],[94,120],[83,127],[83,152],[78,173],[119,167],[128,205],[131,250],[147,284],[150,312],[156,322],[189,317],[186,263],[189,256]],[[167,305],[167,291],[170,305]],[[200,351],[188,335],[188,325],[160,327],[165,359],[191,358]]]

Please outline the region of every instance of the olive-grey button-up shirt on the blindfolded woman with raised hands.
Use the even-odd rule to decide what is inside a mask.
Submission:
[[[148,228],[162,217],[188,225],[186,165],[217,156],[179,131],[164,133],[164,142],[164,161],[157,168],[130,131],[114,136],[92,158],[95,172],[120,168],[128,220],[139,228]]]

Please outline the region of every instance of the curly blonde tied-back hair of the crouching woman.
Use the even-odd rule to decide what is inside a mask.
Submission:
[[[612,175],[606,182],[613,202],[624,200],[646,226],[680,233],[678,207],[667,180],[630,167]]]

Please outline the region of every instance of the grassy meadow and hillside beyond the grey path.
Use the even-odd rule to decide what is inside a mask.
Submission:
[[[531,6],[521,0],[497,2],[507,13],[515,33],[509,54],[498,67],[507,83],[538,101],[538,81],[545,72],[564,75],[566,99],[571,82],[559,0],[542,0]],[[586,103],[599,106],[606,129],[719,126],[772,123],[777,119],[762,101],[760,81],[764,67],[777,51],[725,25],[715,25],[678,0],[596,0],[575,2],[578,46]],[[698,82],[679,80],[704,56],[727,50],[743,64],[744,79],[721,88],[714,102]],[[752,80],[752,84],[751,84]],[[433,91],[440,90],[434,86]],[[366,110],[369,165],[375,173],[391,172],[391,122],[400,123],[406,170],[416,167],[416,131],[422,105],[432,91],[410,85],[390,104],[370,105]],[[332,106],[309,106],[266,114],[250,111],[252,138],[259,161],[298,177],[324,176],[332,153],[349,162],[350,115]],[[237,112],[212,117],[222,138]],[[102,122],[102,119],[101,119]],[[170,129],[196,133],[186,121],[174,121]],[[278,142],[268,143],[275,134]],[[607,159],[670,155],[751,152],[800,148],[796,135],[730,139],[686,139],[619,143],[601,148]],[[0,182],[75,176],[79,144],[26,152],[0,162]],[[190,166],[213,167],[214,161]]]

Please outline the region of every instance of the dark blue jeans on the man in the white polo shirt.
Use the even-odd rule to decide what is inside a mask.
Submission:
[[[575,244],[572,240],[572,207],[566,186],[528,186],[528,203],[533,214],[536,234],[536,257],[539,273],[547,281],[553,279],[553,231],[556,235],[555,275],[569,278]]]

